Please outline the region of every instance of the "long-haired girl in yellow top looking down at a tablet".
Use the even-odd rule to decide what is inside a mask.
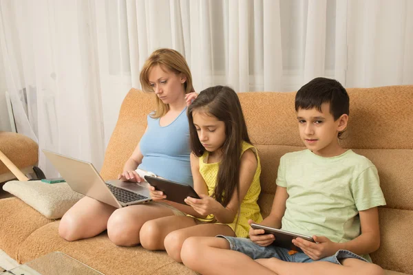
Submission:
[[[149,250],[167,250],[181,262],[182,243],[189,236],[248,236],[248,219],[262,221],[260,158],[248,137],[240,100],[229,87],[205,89],[188,108],[193,186],[201,199],[180,205],[187,216],[147,221],[140,240]],[[151,187],[152,199],[167,199]],[[171,203],[171,202],[169,202]],[[178,204],[178,203],[176,203]]]

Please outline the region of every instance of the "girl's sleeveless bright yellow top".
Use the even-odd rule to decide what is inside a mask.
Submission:
[[[262,221],[262,216],[260,212],[260,206],[258,206],[257,200],[258,196],[261,192],[261,185],[260,185],[260,174],[261,174],[261,164],[260,164],[260,157],[258,157],[257,149],[247,142],[242,142],[242,154],[248,149],[252,149],[257,157],[257,170],[255,170],[253,182],[251,183],[250,188],[246,192],[244,199],[240,205],[240,213],[235,215],[235,219],[232,223],[226,223],[232,230],[235,232],[235,236],[239,237],[248,237],[249,233],[249,224],[248,219],[252,219],[256,223],[260,223]],[[205,151],[204,154],[200,157],[200,174],[204,178],[205,183],[208,186],[208,194],[209,196],[213,195],[213,191],[215,190],[216,181],[218,178],[218,169],[220,166],[219,162],[215,162],[212,164],[208,162],[209,152]],[[241,157],[240,156],[240,157]],[[239,217],[238,217],[239,214]],[[206,219],[199,219],[200,221],[205,222],[213,222],[216,221],[213,215],[209,215]]]

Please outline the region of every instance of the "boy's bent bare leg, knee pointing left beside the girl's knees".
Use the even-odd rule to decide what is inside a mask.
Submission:
[[[245,254],[230,250],[229,242],[223,238],[190,237],[182,245],[181,259],[191,270],[204,275],[277,275]]]

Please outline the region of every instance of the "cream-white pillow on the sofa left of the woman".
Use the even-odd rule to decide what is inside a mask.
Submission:
[[[49,219],[60,219],[83,197],[67,183],[47,184],[43,181],[8,181],[3,190],[10,192]]]

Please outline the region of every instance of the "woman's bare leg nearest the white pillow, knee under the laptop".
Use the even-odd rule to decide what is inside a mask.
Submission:
[[[115,210],[109,204],[83,197],[63,215],[59,235],[67,241],[96,236],[106,230],[107,220]]]

